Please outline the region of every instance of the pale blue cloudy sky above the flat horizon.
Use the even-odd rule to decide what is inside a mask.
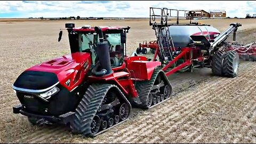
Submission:
[[[0,1],[0,18],[149,17],[149,7],[226,10],[227,17],[256,13],[256,1]]]

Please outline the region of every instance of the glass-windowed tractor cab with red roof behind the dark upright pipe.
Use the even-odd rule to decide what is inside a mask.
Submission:
[[[100,42],[95,27],[85,25],[75,28],[74,23],[66,23],[68,30],[71,53],[89,52],[92,65],[98,61],[96,47]],[[126,33],[130,27],[100,27],[103,33],[103,41],[108,44],[111,67],[119,67],[124,61],[124,50],[126,44]]]

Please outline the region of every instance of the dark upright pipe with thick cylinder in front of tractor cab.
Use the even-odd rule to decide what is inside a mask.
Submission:
[[[97,43],[96,53],[99,58],[99,65],[96,65],[92,69],[92,73],[95,76],[109,75],[112,73],[110,55],[109,55],[109,44],[107,41],[104,41],[102,29],[100,27],[94,28],[96,33],[99,35],[100,42]],[[100,70],[100,71],[98,71]]]

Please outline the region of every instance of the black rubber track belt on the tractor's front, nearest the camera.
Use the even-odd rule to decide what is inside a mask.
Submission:
[[[86,93],[84,94],[84,97],[82,98],[81,102],[76,108],[74,121],[70,123],[70,128],[74,133],[82,133],[84,136],[95,136],[108,130],[106,129],[104,131],[98,132],[95,135],[92,135],[91,122],[93,117],[96,115],[103,99],[105,98],[105,95],[107,94],[108,90],[111,89],[111,87],[116,87],[119,93],[121,93],[121,96],[124,98],[124,101],[126,101],[130,105],[129,101],[124,97],[124,95],[118,89],[117,86],[111,85],[111,84],[92,84],[87,89]],[[130,110],[131,110],[131,105],[130,105]],[[130,111],[129,117],[130,115],[131,115],[131,111]]]

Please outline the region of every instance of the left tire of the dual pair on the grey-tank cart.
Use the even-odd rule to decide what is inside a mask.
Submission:
[[[222,76],[222,63],[225,52],[217,51],[212,57],[212,73],[216,76]]]

